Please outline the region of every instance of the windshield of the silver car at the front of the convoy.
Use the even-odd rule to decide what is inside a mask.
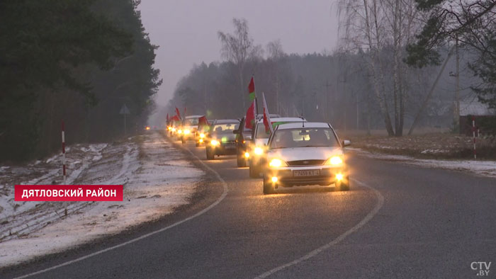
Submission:
[[[339,142],[329,128],[276,130],[270,148],[291,147],[339,147]]]

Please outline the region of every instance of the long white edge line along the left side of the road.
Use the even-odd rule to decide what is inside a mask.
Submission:
[[[62,266],[69,266],[69,264],[72,264],[72,263],[77,263],[78,261],[83,261],[83,260],[85,260],[86,258],[91,258],[92,256],[96,256],[96,255],[99,255],[99,254],[103,254],[103,253],[105,253],[106,251],[111,251],[111,250],[113,250],[113,249],[117,249],[117,248],[119,248],[119,247],[122,247],[122,246],[125,246],[125,245],[128,245],[128,244],[131,244],[131,243],[133,243],[133,242],[139,241],[139,240],[141,240],[141,239],[145,239],[145,238],[147,238],[147,237],[151,237],[151,236],[152,236],[152,235],[154,235],[154,234],[158,234],[159,232],[164,232],[164,231],[166,231],[167,229],[171,229],[172,227],[176,227],[176,226],[178,226],[179,224],[182,224],[182,223],[184,223],[184,222],[188,222],[189,220],[194,219],[194,218],[196,218],[196,217],[198,217],[198,216],[202,215],[202,214],[203,214],[203,213],[205,213],[205,212],[208,212],[208,210],[211,210],[213,207],[215,207],[216,205],[218,205],[218,204],[219,204],[222,200],[224,200],[225,196],[227,195],[227,183],[224,181],[224,179],[222,179],[222,177],[220,177],[220,174],[219,174],[217,171],[214,171],[214,169],[210,168],[210,166],[207,166],[207,164],[203,163],[203,161],[201,161],[201,159],[200,159],[200,158],[198,158],[198,156],[196,156],[195,154],[193,154],[193,152],[191,152],[189,149],[186,149],[186,148],[184,148],[184,149],[185,149],[185,150],[188,150],[188,152],[189,152],[192,156],[194,156],[196,159],[198,159],[198,161],[199,161],[201,164],[203,164],[203,166],[205,166],[205,168],[207,168],[209,171],[212,171],[212,172],[215,174],[215,176],[218,178],[218,180],[220,181],[220,183],[222,183],[222,188],[224,188],[224,189],[223,189],[223,191],[222,191],[222,195],[220,195],[220,197],[219,197],[217,200],[215,200],[215,203],[213,203],[213,204],[209,205],[208,207],[206,207],[205,209],[203,209],[203,210],[201,210],[200,212],[196,213],[195,215],[192,215],[192,216],[190,216],[190,217],[188,217],[188,218],[186,218],[186,219],[184,219],[184,220],[181,220],[181,221],[179,221],[179,222],[176,222],[176,223],[174,223],[174,224],[171,224],[170,226],[164,227],[164,228],[162,228],[162,229],[158,229],[158,230],[156,230],[156,231],[154,231],[154,232],[149,232],[149,233],[147,233],[147,234],[144,234],[144,235],[142,235],[141,237],[137,237],[137,238],[135,238],[135,239],[131,239],[131,240],[125,241],[125,242],[123,242],[123,243],[121,243],[121,244],[117,244],[117,245],[115,245],[115,246],[111,246],[111,247],[108,247],[108,248],[106,248],[106,249],[103,249],[103,250],[100,250],[100,251],[96,251],[96,252],[91,253],[91,254],[88,254],[88,255],[86,255],[86,256],[82,256],[81,258],[75,258],[75,259],[74,259],[74,260],[72,260],[72,261],[66,261],[65,263],[60,263],[60,264],[59,264],[59,265],[57,265],[57,266],[52,266],[52,267],[50,267],[50,268],[45,268],[45,269],[43,269],[43,270],[41,270],[41,271],[36,271],[36,272],[29,273],[29,274],[26,274],[26,275],[23,275],[23,276],[20,276],[20,277],[16,277],[16,278],[14,278],[14,279],[28,278],[28,277],[30,277],[30,276],[33,276],[33,275],[38,275],[38,274],[41,274],[41,273],[45,273],[45,272],[47,272],[47,271],[53,271],[54,269],[61,268]]]

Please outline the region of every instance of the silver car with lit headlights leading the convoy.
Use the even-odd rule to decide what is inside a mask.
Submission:
[[[349,172],[344,146],[328,123],[289,123],[276,127],[266,150],[264,194],[278,186],[305,186],[335,183],[349,190]]]

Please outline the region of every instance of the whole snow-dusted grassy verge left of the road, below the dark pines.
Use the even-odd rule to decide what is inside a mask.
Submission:
[[[188,203],[204,174],[158,133],[117,144],[76,145],[67,161],[70,183],[123,184],[123,202],[14,202],[14,184],[60,183],[60,156],[23,168],[1,167],[0,267],[167,215]]]

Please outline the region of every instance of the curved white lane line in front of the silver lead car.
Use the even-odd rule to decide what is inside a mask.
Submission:
[[[368,212],[368,214],[358,224],[354,225],[354,227],[351,227],[351,229],[349,229],[346,232],[344,232],[343,234],[339,235],[339,237],[337,237],[333,241],[330,241],[328,244],[325,244],[324,246],[320,246],[319,248],[317,248],[317,249],[315,249],[313,251],[310,251],[310,253],[306,254],[305,256],[302,256],[301,258],[297,258],[294,261],[291,261],[289,263],[285,263],[282,266],[278,266],[276,268],[272,268],[270,271],[267,271],[265,273],[262,273],[261,275],[258,275],[257,277],[255,277],[255,279],[267,278],[270,275],[272,275],[272,274],[274,274],[274,273],[276,273],[278,271],[282,271],[285,268],[288,268],[290,266],[294,266],[295,264],[301,263],[302,261],[306,261],[309,258],[312,258],[314,256],[317,256],[318,254],[322,253],[322,251],[325,251],[325,250],[331,248],[332,246],[334,246],[334,245],[338,244],[339,242],[343,241],[343,239],[345,239],[346,237],[348,237],[350,234],[352,234],[352,233],[356,232],[357,230],[359,230],[361,227],[363,227],[368,221],[370,221],[377,214],[377,212],[384,205],[384,197],[383,197],[383,195],[378,190],[372,188],[371,186],[368,186],[366,183],[363,183],[361,181],[357,181],[356,179],[352,179],[352,180],[355,181],[356,183],[359,183],[363,187],[366,187],[366,188],[371,189],[373,191],[373,193],[376,194],[377,204],[376,204],[375,207],[373,207],[373,209],[371,210],[371,212]]]

